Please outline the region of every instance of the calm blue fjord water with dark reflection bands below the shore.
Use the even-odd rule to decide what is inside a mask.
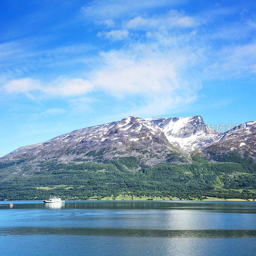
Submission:
[[[0,255],[256,255],[255,202],[0,201]]]

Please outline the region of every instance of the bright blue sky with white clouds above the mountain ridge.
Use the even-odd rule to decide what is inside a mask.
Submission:
[[[256,119],[256,2],[0,5],[0,156],[127,116]]]

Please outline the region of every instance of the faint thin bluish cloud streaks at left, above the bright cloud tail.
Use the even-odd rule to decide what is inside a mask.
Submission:
[[[39,73],[42,68],[48,69],[46,73],[51,73],[53,67],[68,66],[70,69],[71,65],[84,63],[89,52],[95,50],[95,46],[88,43],[45,48],[45,42],[52,40],[50,36],[28,37],[0,44],[2,83],[15,76],[24,78],[27,74]]]

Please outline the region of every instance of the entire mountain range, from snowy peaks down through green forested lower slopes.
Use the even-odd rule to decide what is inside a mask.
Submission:
[[[256,199],[256,121],[227,132],[201,116],[129,116],[0,158],[0,199],[94,195]]]

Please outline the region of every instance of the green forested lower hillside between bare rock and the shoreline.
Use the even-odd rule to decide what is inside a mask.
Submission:
[[[0,199],[44,199],[61,195],[86,199],[122,193],[133,195],[213,196],[256,198],[255,164],[211,163],[200,154],[192,164],[140,164],[136,157],[120,157],[105,163],[86,163],[86,159],[61,163],[26,161],[0,165]],[[35,167],[36,166],[36,167]]]

